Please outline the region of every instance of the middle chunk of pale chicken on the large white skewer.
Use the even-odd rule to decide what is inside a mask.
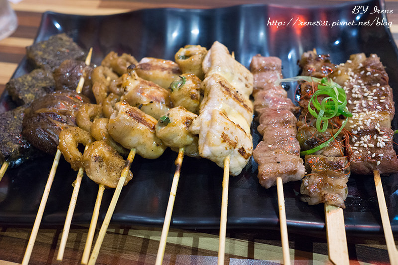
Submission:
[[[202,87],[204,97],[200,105],[200,114],[207,116],[206,112],[217,109],[250,134],[253,107],[249,99],[237,92],[224,77],[218,74],[207,76],[202,82]]]

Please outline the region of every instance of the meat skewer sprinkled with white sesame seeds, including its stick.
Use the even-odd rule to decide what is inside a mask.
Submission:
[[[353,54],[333,74],[348,95],[348,109],[353,117],[346,129],[351,132],[347,155],[351,170],[361,175],[374,175],[379,210],[391,264],[398,264],[398,252],[387,213],[380,174],[398,172],[398,159],[393,149],[391,120],[395,114],[393,91],[389,78],[375,54]]]

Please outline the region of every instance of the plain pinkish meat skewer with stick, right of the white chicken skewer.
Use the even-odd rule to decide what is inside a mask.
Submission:
[[[256,55],[250,71],[254,77],[254,110],[260,122],[257,130],[263,135],[253,158],[259,164],[260,184],[265,188],[277,186],[283,263],[290,264],[283,183],[301,180],[305,173],[296,139],[298,107],[287,98],[282,86],[275,85],[282,78],[279,58]]]

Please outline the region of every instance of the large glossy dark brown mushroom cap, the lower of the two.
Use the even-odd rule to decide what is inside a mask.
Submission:
[[[59,133],[76,126],[75,115],[89,99],[73,91],[54,92],[32,102],[23,119],[22,135],[36,148],[55,155]]]

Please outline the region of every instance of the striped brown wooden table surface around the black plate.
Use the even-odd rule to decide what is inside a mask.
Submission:
[[[32,44],[44,11],[74,14],[114,14],[155,7],[213,8],[243,3],[265,3],[264,0],[22,0],[11,4],[19,20],[17,30],[0,40],[0,93]],[[274,3],[289,4],[287,0]],[[311,4],[316,1],[306,0]],[[387,1],[391,31],[398,40],[398,1]],[[21,263],[32,227],[0,226],[0,264]],[[87,225],[73,225],[62,263],[56,261],[62,227],[41,226],[30,264],[80,264]],[[110,226],[97,263],[104,265],[153,265],[161,228]],[[289,234],[292,263],[297,265],[328,264],[326,236],[310,237]],[[351,264],[389,264],[383,238],[348,235]],[[217,264],[218,231],[171,229],[164,264]],[[249,230],[227,231],[225,264],[257,265],[282,262],[279,231],[267,233]]]

